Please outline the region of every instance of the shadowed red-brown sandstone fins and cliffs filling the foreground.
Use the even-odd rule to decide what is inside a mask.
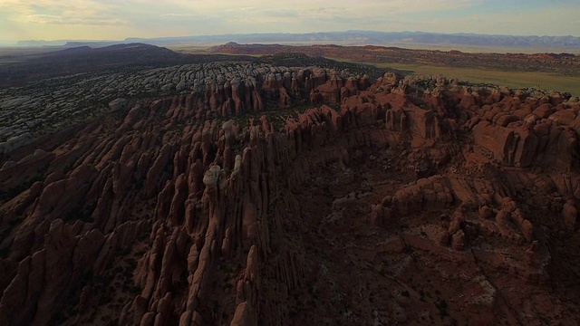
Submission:
[[[263,76],[2,161],[0,320],[578,321],[577,99]]]

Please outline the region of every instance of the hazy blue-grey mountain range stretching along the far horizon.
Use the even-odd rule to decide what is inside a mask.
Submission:
[[[127,38],[124,41],[22,41],[19,46],[63,46],[91,47],[108,46],[114,43],[148,43],[152,45],[169,45],[178,43],[352,43],[387,45],[397,44],[430,44],[478,47],[506,47],[519,49],[557,49],[580,51],[580,37],[567,36],[517,36],[491,34],[440,34],[427,32],[373,32],[347,31],[307,34],[221,34],[182,37]]]

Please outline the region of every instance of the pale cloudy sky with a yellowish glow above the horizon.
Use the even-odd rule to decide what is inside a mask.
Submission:
[[[580,0],[0,0],[0,42],[347,30],[580,36]]]

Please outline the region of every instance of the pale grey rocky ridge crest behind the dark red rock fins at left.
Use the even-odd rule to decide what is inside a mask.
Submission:
[[[231,116],[264,110],[267,103],[260,102],[261,93],[256,93],[264,88],[266,100],[277,101],[282,97],[280,101],[286,101],[283,104],[287,107],[292,104],[287,91],[305,91],[305,94],[292,95],[308,98],[311,89],[334,75],[349,79],[356,78],[357,73],[348,70],[331,72],[331,69],[321,68],[304,70],[268,63],[209,62],[153,69],[131,68],[118,72],[86,72],[30,82],[24,87],[0,90],[0,154],[71,125],[171,95],[183,95],[185,100],[191,92],[204,93],[206,98],[196,103],[188,102],[188,105],[198,105],[196,110],[203,107],[207,115]],[[284,83],[284,89],[279,88],[281,83]],[[350,83],[353,91],[356,85],[353,86],[352,80]],[[286,93],[278,94],[278,90]],[[224,104],[225,101],[228,102]],[[211,110],[205,111],[205,105],[209,105]],[[218,108],[218,105],[223,108]]]

